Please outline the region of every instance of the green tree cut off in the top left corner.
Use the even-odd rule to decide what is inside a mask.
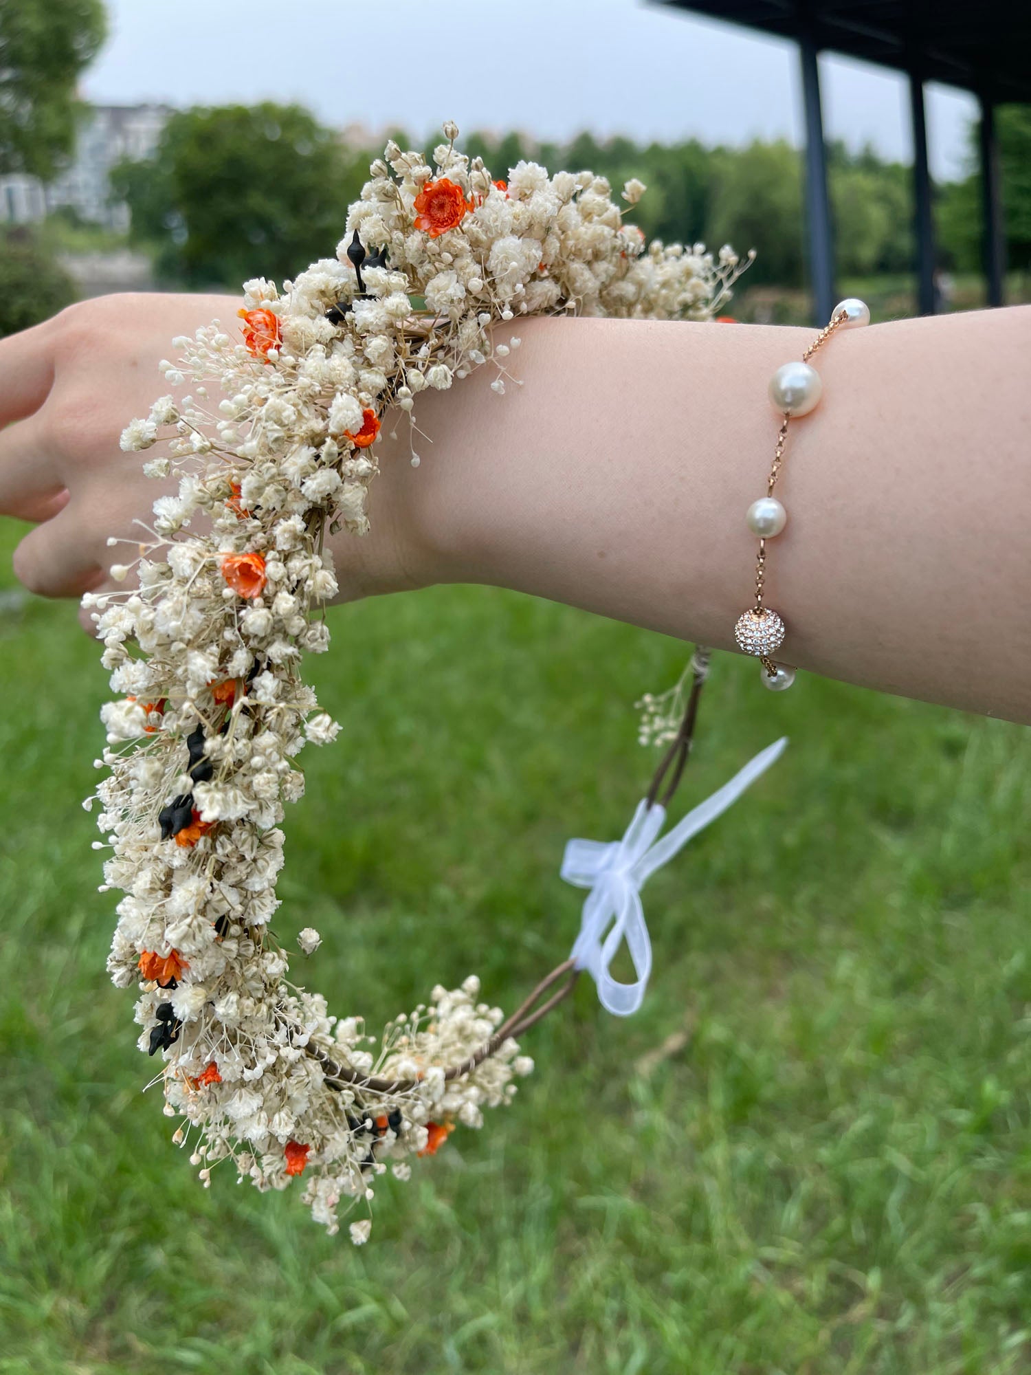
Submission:
[[[0,3],[0,175],[44,182],[76,142],[76,82],[106,34],[102,0]]]

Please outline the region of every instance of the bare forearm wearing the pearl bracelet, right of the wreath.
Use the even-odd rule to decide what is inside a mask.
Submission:
[[[432,582],[570,602],[733,649],[753,600],[766,388],[811,329],[536,319],[522,386],[419,397],[422,465],[384,455]],[[779,660],[1031,722],[1031,308],[840,331],[792,422],[767,544]],[[404,440],[404,429],[400,430]]]

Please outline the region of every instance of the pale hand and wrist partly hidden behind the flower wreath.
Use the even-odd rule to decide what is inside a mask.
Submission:
[[[146,521],[154,499],[175,487],[144,476],[154,452],[124,452],[121,432],[168,390],[158,363],[173,355],[172,340],[214,319],[234,331],[241,304],[216,294],[104,296],[0,340],[0,514],[36,522],[14,553],[15,576],[30,591],[81,597],[117,586],[111,565],[132,560],[126,544],[109,549],[109,536],[132,539],[133,521]],[[399,554],[401,543],[418,542],[392,513],[390,487],[375,534],[334,546],[341,600],[425,580]],[[89,613],[80,619],[92,632]]]

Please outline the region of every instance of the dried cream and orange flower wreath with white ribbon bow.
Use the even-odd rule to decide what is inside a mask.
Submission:
[[[484,1107],[511,1099],[513,1077],[533,1067],[518,1037],[580,969],[605,1006],[635,1011],[650,969],[641,884],[782,748],[657,840],[708,671],[696,652],[690,688],[685,678],[672,698],[646,704],[643,738],[668,748],[627,835],[569,843],[562,877],[591,890],[570,958],[507,1019],[469,978],[433,989],[377,1044],[359,1018],[331,1016],[320,994],[289,982],[268,930],[279,822],[304,789],[296,755],[340,729],[298,664],[329,644],[312,616],[337,591],[324,535],[368,529],[385,412],[407,412],[411,436],[419,392],[488,362],[503,393],[520,341],[495,342],[498,322],[711,319],[744,267],[729,248],[713,260],[702,245],[645,246],[590,172],[550,177],[520,162],[495,180],[455,150],[454,124],[444,135],[433,168],[386,146],[335,257],[282,292],[264,278],[245,285],[242,340],[216,320],[173,341],[181,358],[161,371],[175,389],[188,377],[192,393],[157,400],[122,448],[166,436],[144,470],[177,476],[177,494],[154,502],[135,564],[111,571],[122,582],[135,569],[135,586],[84,600],[120,694],[102,711],[96,762],[110,769],[96,791],[107,839],[95,844],[111,850],[102,891],[124,892],[107,964],[115,984],[139,991],[139,1048],[162,1052],[165,1114],[183,1119],[173,1141],[191,1145],[205,1185],[224,1159],[260,1189],[307,1176],[304,1200],[330,1232],[342,1202],[364,1202],[351,1224],[359,1244],[374,1178],[388,1165],[407,1178],[408,1156],[433,1155],[455,1123],[480,1126]],[[642,191],[628,182],[623,197],[632,205]],[[623,939],[634,984],[608,972]],[[319,935],[307,928],[298,942],[311,954]]]

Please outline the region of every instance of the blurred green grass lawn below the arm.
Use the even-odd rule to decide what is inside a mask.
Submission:
[[[304,756],[276,928],[323,932],[305,978],[341,1013],[470,971],[511,1008],[572,943],[562,846],[621,830],[632,701],[683,646],[477,588],[333,628],[344,732]],[[1031,1368],[1026,732],[811,676],[771,697],[722,656],[678,807],[792,747],[649,886],[645,1008],[581,983],[511,1110],[381,1187],[359,1251],[289,1191],[205,1192],[140,1092],[71,606],[0,609],[0,683],[3,1375]]]

